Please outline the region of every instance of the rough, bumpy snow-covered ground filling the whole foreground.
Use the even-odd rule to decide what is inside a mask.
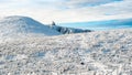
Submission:
[[[0,75],[132,75],[132,30],[0,43]]]

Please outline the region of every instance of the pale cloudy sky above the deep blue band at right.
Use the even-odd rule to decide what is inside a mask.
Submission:
[[[0,0],[0,17],[25,15],[43,23],[132,18],[132,0]]]

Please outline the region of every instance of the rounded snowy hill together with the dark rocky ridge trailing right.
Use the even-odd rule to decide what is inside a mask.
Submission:
[[[29,17],[11,15],[0,19],[0,38],[51,36],[90,30],[46,25]]]

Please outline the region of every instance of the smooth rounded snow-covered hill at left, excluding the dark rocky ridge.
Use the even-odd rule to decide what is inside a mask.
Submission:
[[[40,36],[58,34],[61,33],[28,17],[12,15],[6,17],[0,20],[0,38]]]

